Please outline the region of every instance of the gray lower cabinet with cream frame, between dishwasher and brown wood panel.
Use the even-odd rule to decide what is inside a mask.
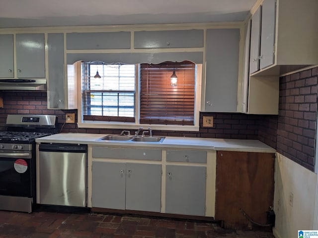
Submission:
[[[89,146],[88,207],[213,217],[215,166],[215,151]]]

